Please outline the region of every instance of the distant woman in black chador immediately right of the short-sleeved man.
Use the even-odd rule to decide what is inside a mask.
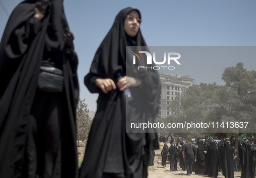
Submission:
[[[198,144],[195,174],[204,175],[205,173],[205,153],[204,142]]]

